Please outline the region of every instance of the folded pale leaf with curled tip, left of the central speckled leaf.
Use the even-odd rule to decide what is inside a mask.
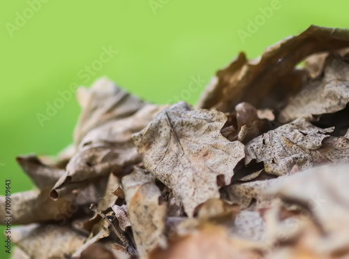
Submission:
[[[133,146],[131,136],[147,126],[163,108],[165,106],[146,105],[131,117],[109,121],[89,131],[53,190],[57,191],[67,182],[82,182],[140,163],[142,155]]]

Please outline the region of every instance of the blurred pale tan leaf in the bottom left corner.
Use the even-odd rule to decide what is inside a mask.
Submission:
[[[59,225],[31,224],[13,228],[13,243],[31,259],[64,258],[79,248],[86,237]]]

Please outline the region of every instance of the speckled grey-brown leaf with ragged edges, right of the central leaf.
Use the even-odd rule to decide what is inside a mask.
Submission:
[[[295,165],[299,170],[311,168],[320,156],[312,151],[320,149],[322,140],[333,130],[315,127],[304,118],[296,119],[248,142],[245,164],[253,159],[263,162],[265,172],[272,175],[288,175]]]

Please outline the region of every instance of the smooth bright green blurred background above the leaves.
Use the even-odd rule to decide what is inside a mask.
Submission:
[[[16,155],[57,154],[72,142],[75,97],[49,121],[37,118],[70,84],[107,75],[147,101],[193,104],[204,89],[188,91],[193,77],[209,82],[239,50],[257,57],[311,24],[348,27],[348,8],[348,0],[1,1],[0,194],[5,179],[13,192],[32,188]],[[103,47],[118,52],[98,63]]]

